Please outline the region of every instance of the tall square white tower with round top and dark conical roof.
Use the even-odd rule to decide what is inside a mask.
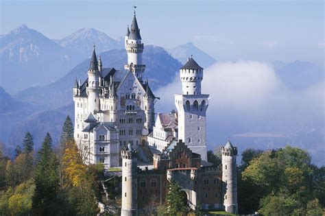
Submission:
[[[206,109],[209,95],[201,92],[203,68],[193,58],[180,68],[182,95],[175,95],[178,110],[178,140],[184,143],[202,160],[207,161],[206,155]]]

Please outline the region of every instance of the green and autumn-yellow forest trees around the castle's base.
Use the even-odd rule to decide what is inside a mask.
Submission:
[[[15,153],[13,160],[8,158],[0,145],[0,215],[99,213],[97,200],[104,167],[84,165],[69,117],[62,126],[58,145],[53,145],[47,133],[35,152],[33,136],[27,132]],[[267,151],[246,149],[241,156],[237,169],[239,213],[323,215],[325,167],[312,165],[308,152],[288,145]],[[209,151],[208,161],[219,165],[221,155]],[[153,209],[149,211],[152,215],[186,215],[191,211],[173,181],[165,203],[153,203],[148,208]],[[204,213],[199,204],[191,215]]]

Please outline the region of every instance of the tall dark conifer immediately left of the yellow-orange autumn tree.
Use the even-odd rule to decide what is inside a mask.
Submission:
[[[34,175],[36,185],[32,199],[36,215],[53,215],[56,211],[56,193],[59,187],[58,159],[53,154],[52,139],[46,134],[38,152],[38,163]]]

